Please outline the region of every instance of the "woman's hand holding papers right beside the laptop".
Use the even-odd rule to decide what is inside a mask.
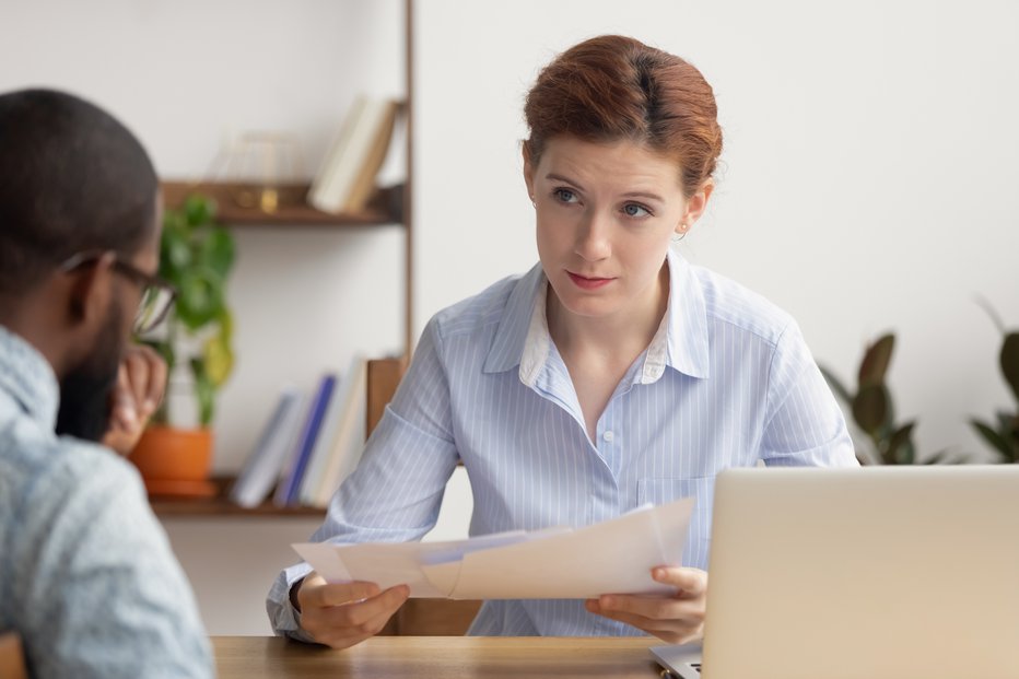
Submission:
[[[700,569],[657,566],[652,569],[656,582],[672,585],[672,596],[604,594],[588,599],[593,613],[632,624],[670,644],[686,644],[704,636],[704,611],[707,605],[707,573]]]

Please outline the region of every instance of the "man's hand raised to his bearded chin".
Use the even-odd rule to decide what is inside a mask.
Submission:
[[[120,360],[103,444],[128,455],[145,431],[166,391],[166,362],[151,347],[132,344]]]

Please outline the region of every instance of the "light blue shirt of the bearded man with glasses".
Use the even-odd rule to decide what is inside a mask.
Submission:
[[[54,434],[49,363],[0,326],[0,632],[32,677],[211,677],[209,642],[138,472]]]

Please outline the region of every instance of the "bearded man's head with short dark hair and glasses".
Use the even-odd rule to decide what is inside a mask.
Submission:
[[[160,212],[152,162],[109,114],[60,92],[0,95],[0,324],[54,366],[60,433],[106,430]]]

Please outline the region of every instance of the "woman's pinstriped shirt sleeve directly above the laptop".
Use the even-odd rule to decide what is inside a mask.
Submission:
[[[761,448],[766,465],[858,465],[842,409],[793,321],[772,356]]]

